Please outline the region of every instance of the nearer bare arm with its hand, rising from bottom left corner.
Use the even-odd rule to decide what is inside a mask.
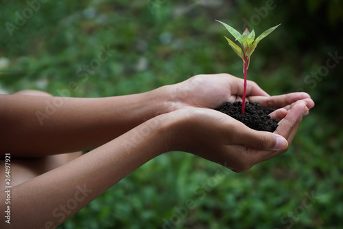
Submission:
[[[287,112],[276,130],[279,134],[254,131],[212,109],[179,109],[152,118],[90,153],[14,186],[11,224],[0,221],[0,226],[54,228],[136,168],[167,151],[186,151],[233,171],[244,171],[287,150],[305,106],[299,101]],[[5,198],[2,190],[1,205]]]

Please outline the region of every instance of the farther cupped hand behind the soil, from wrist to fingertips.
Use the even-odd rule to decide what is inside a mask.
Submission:
[[[224,102],[241,101],[244,80],[229,74],[197,75],[176,85],[171,85],[171,94],[176,101],[175,109],[206,107],[215,109]],[[314,107],[311,97],[304,93],[269,96],[255,82],[248,80],[246,100],[259,102],[262,107],[283,108],[276,111],[276,118],[283,118],[294,102],[304,100],[307,109]],[[306,114],[306,113],[305,113]]]

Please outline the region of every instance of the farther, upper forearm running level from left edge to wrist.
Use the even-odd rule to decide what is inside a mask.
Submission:
[[[0,151],[25,157],[94,149],[168,112],[169,97],[165,87],[108,98],[0,96]]]

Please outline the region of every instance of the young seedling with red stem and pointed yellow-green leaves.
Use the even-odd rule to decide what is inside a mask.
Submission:
[[[215,21],[218,21],[218,20],[215,20]],[[262,39],[264,39],[265,36],[268,36],[271,32],[273,32],[281,24],[276,25],[268,30],[265,30],[265,32],[263,32],[261,35],[257,37],[257,39],[255,39],[254,30],[249,32],[248,28],[246,28],[243,34],[240,34],[239,32],[237,32],[237,30],[232,28],[230,25],[227,25],[226,23],[222,21],[218,21],[218,22],[222,23],[225,26],[226,30],[228,30],[228,32],[230,32],[230,34],[232,34],[235,37],[236,39],[235,41],[238,40],[239,43],[241,44],[241,47],[243,48],[243,51],[242,51],[238,45],[236,45],[233,41],[231,41],[226,36],[224,36],[226,40],[228,41],[228,45],[230,45],[233,48],[233,51],[235,51],[235,53],[243,60],[244,91],[243,91],[243,102],[241,104],[241,114],[244,114],[244,109],[246,107],[246,71],[248,70],[248,67],[250,64],[251,54],[252,52],[255,51],[255,48],[257,47],[259,42]]]

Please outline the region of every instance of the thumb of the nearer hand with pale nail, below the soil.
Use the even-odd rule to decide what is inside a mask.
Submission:
[[[242,144],[263,151],[279,151],[288,147],[288,142],[283,136],[266,131],[250,129],[240,139],[243,141]]]

